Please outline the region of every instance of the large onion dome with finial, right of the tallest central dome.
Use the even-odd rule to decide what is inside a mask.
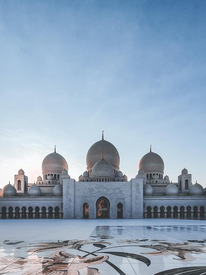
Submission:
[[[140,159],[138,163],[138,170],[139,169],[143,169],[144,173],[153,171],[163,173],[164,162],[161,156],[151,151],[150,147],[150,152]]]

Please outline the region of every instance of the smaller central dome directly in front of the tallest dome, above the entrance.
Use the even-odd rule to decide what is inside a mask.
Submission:
[[[91,178],[115,178],[115,172],[111,164],[104,159],[102,156],[102,159],[99,160],[95,165],[93,166],[91,170]]]

